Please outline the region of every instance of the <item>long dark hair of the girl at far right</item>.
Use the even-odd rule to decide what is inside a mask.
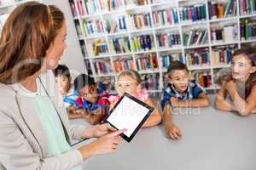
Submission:
[[[235,51],[235,53],[232,55],[231,59],[233,59],[237,55],[245,55],[248,59],[251,61],[252,66],[256,66],[256,50],[251,47],[247,48],[240,48]],[[250,74],[250,76],[247,79],[247,82],[245,84],[246,86],[246,95],[250,93],[250,88],[252,86],[252,82],[256,81],[256,72],[253,72]]]

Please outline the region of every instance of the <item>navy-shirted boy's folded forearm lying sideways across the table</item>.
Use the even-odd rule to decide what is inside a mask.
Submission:
[[[198,95],[198,99],[177,100],[177,98],[172,97],[170,102],[174,107],[207,107],[209,105],[207,94],[203,92]]]

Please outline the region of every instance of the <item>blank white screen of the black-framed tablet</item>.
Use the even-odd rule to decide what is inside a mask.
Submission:
[[[145,116],[150,112],[150,108],[145,107],[137,101],[124,96],[116,105],[107,121],[118,129],[126,128],[124,133],[128,138],[136,131],[137,127],[143,122]]]

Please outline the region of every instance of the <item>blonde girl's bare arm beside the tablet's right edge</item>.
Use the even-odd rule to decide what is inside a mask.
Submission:
[[[143,124],[143,127],[153,127],[155,125],[160,124],[161,120],[162,120],[162,116],[160,114],[160,112],[158,111],[158,108],[156,108],[151,100],[148,98],[145,101],[146,104],[154,107],[154,111],[153,113],[148,117],[148,120]]]

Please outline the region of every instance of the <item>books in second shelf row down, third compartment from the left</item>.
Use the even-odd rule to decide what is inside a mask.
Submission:
[[[150,14],[131,14],[130,15],[131,20],[131,27],[136,29],[143,29],[152,27],[152,20],[150,17]]]

